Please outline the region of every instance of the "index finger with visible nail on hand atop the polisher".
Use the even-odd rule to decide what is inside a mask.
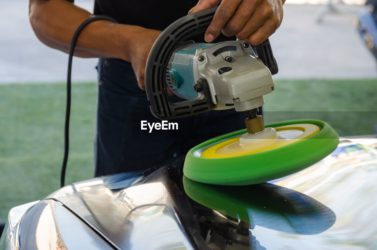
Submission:
[[[223,0],[213,16],[210,26],[205,31],[204,40],[208,43],[215,40],[221,30],[231,19],[242,0]]]

